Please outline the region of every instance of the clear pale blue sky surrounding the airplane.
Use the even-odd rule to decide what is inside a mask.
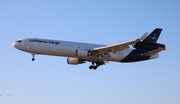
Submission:
[[[0,104],[180,104],[179,0],[0,0]],[[68,65],[12,47],[22,38],[112,45],[163,28],[158,59]]]

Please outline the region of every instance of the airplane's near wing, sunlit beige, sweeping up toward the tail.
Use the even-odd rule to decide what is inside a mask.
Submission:
[[[129,42],[124,42],[124,43],[119,43],[119,44],[114,44],[114,45],[98,47],[98,48],[94,48],[92,51],[95,53],[108,53],[108,52],[117,53],[122,50],[128,49],[129,45],[136,44],[139,41],[141,41],[141,39],[136,39]]]

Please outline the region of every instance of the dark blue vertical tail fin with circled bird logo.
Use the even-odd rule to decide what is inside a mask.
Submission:
[[[142,42],[145,43],[156,43],[160,34],[161,34],[162,29],[161,28],[156,28],[154,31],[152,31],[146,39],[144,39]]]

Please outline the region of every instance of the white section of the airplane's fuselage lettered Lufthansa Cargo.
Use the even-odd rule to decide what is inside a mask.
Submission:
[[[59,40],[39,39],[39,38],[27,38],[21,39],[19,42],[13,43],[13,46],[21,51],[34,54],[64,56],[64,57],[77,57],[89,61],[98,60],[96,56],[78,56],[77,50],[92,50],[94,48],[102,47],[105,45],[87,44],[78,42],[67,42]],[[130,54],[133,49],[126,49],[117,53],[110,52],[110,56],[106,61],[119,62]]]

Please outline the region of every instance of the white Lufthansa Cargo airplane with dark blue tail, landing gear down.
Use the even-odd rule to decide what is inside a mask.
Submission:
[[[165,50],[164,44],[157,43],[161,28],[155,28],[149,35],[144,33],[141,38],[114,45],[99,45],[40,38],[26,38],[15,41],[12,46],[18,50],[35,55],[51,55],[67,57],[70,65],[91,62],[89,69],[96,70],[106,62],[138,62],[159,57]]]

